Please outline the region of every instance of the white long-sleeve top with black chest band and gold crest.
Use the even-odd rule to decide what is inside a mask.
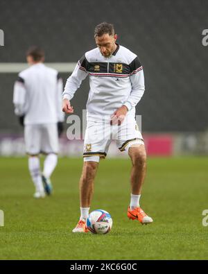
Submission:
[[[145,89],[143,67],[135,53],[119,44],[110,58],[98,48],[87,51],[67,79],[63,99],[71,100],[88,75],[88,117],[112,115],[121,105],[126,105],[128,114],[135,115],[135,105]]]

